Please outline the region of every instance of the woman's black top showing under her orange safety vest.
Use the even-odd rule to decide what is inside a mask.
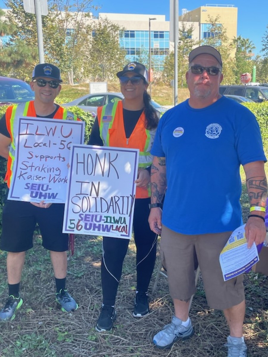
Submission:
[[[124,129],[126,138],[129,138],[132,134],[139,117],[142,115],[143,109],[140,110],[127,110],[123,108],[123,119],[124,119]],[[88,145],[99,145],[103,146],[103,141],[100,138],[100,128],[98,117],[95,118],[94,124],[92,126],[91,134],[89,137]]]

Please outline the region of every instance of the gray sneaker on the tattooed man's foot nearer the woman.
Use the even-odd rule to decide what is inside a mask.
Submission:
[[[192,322],[190,320],[189,326],[182,326],[182,320],[173,316],[171,323],[164,326],[163,330],[158,332],[154,338],[153,343],[155,347],[160,350],[165,350],[174,345],[178,340],[185,340],[194,334]]]

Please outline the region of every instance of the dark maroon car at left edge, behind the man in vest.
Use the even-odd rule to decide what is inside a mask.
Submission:
[[[0,76],[0,106],[34,100],[29,84],[20,79]]]

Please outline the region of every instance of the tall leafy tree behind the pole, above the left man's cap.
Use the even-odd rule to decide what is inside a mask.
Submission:
[[[45,61],[51,61],[61,69],[63,78],[74,83],[74,77],[81,77],[85,65],[84,58],[90,46],[89,10],[93,0],[49,0],[48,16],[42,16]],[[37,45],[36,17],[26,13],[23,0],[7,0],[10,7],[9,23],[16,30],[11,35],[15,46],[18,40],[23,41],[32,54],[32,67],[38,62],[35,59]],[[15,47],[14,47],[15,48]],[[26,69],[25,69],[26,71]],[[25,73],[26,75],[26,73]]]

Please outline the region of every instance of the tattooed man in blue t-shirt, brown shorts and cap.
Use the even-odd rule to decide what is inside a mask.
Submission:
[[[162,116],[151,151],[149,223],[155,233],[161,232],[162,261],[175,310],[172,322],[153,342],[165,349],[193,335],[188,310],[197,256],[208,304],[223,310],[230,328],[228,357],[244,357],[243,275],[224,282],[219,254],[242,224],[240,165],[250,201],[248,248],[265,239],[266,158],[255,116],[219,94],[223,74],[216,49],[200,46],[191,51],[186,79],[190,98]]]

